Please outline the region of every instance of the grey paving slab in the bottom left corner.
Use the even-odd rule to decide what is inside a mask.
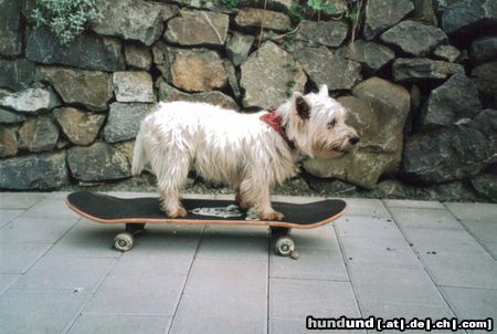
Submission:
[[[87,300],[72,291],[8,291],[0,298],[0,333],[65,333]]]

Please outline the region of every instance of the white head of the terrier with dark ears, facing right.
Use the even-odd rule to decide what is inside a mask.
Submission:
[[[356,129],[345,123],[347,109],[328,95],[326,85],[318,93],[294,93],[282,109],[286,135],[309,157],[338,157],[359,142]]]

